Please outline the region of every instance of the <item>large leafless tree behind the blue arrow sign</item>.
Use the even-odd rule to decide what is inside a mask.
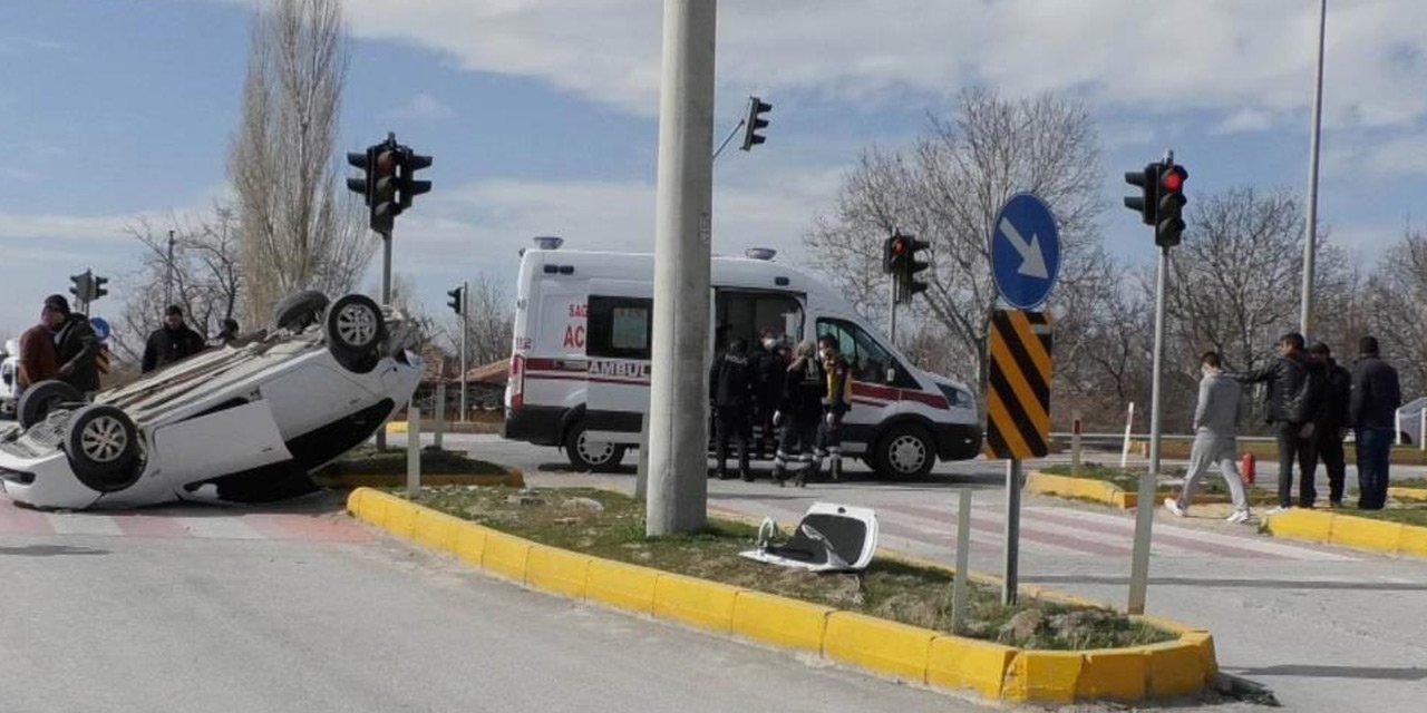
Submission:
[[[989,235],[996,211],[1032,191],[1056,214],[1062,240],[1062,287],[1087,285],[1096,265],[1100,198],[1099,138],[1086,108],[1046,94],[1003,100],[989,90],[960,94],[950,120],[906,151],[870,148],[843,180],[833,215],[819,217],[805,242],[813,262],[868,317],[886,314],[882,241],[893,230],[932,245],[926,299],[918,309],[942,338],[949,372],[986,382],[985,341],[996,289]]]

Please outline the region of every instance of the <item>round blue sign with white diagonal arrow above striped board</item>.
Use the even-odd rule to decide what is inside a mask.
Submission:
[[[1046,301],[1060,274],[1060,231],[1045,201],[1017,193],[1002,205],[990,231],[990,274],[1017,309]]]

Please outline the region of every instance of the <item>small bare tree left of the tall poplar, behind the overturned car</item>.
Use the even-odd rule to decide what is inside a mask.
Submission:
[[[224,204],[215,204],[208,215],[174,215],[171,261],[168,230],[143,218],[124,228],[143,251],[138,270],[123,278],[127,299],[113,337],[120,361],[140,358],[148,332],[163,321],[166,299],[181,307],[188,324],[204,334],[217,332],[223,319],[238,314],[244,279],[237,222],[237,212]]]

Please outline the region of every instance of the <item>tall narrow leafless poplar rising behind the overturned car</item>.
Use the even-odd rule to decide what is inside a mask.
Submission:
[[[332,158],[344,37],[338,0],[273,0],[253,20],[228,158],[253,324],[294,291],[351,291],[375,250]]]

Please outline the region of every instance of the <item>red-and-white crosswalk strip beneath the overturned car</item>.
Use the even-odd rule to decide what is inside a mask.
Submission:
[[[367,542],[372,533],[340,509],[240,509],[174,505],[116,512],[41,512],[0,496],[0,536],[300,539]]]

